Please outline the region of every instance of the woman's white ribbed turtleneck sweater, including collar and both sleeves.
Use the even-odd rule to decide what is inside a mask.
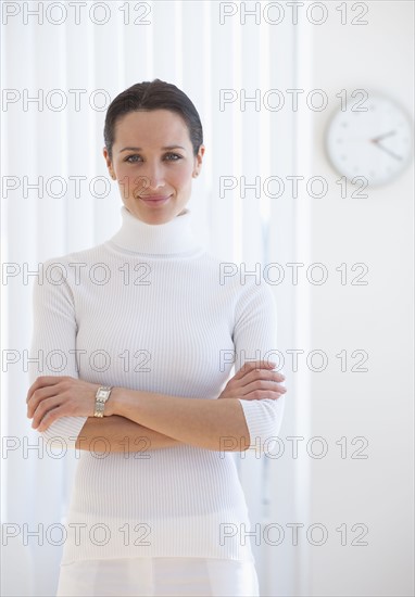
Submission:
[[[219,259],[193,237],[189,209],[161,225],[125,206],[121,212],[110,240],[43,264],[34,287],[30,355],[45,367],[30,364],[30,383],[71,376],[215,399],[247,360],[273,360],[276,308],[265,283],[241,278],[239,268],[224,278]],[[252,448],[272,448],[284,401],[240,399]],[[86,420],[63,417],[42,436],[74,447]],[[187,444],[138,454],[81,450],[63,563],[168,556],[252,561],[239,457]]]

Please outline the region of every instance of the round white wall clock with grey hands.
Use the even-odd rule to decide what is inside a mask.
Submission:
[[[350,181],[364,177],[370,186],[385,185],[412,160],[413,126],[404,110],[388,98],[369,96],[360,104],[331,118],[327,153],[335,169]]]

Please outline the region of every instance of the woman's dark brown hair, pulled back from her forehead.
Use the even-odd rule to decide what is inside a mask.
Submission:
[[[190,99],[171,82],[160,79],[133,85],[120,93],[109,105],[104,125],[104,142],[112,158],[112,147],[115,141],[115,124],[129,112],[169,110],[179,114],[188,129],[193,153],[197,155],[203,143],[202,123],[198,111]]]

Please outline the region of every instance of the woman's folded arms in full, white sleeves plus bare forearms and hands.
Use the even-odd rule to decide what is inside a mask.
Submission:
[[[269,289],[253,284],[242,290],[232,329],[238,367],[242,354],[273,354],[276,346],[276,309]],[[48,280],[35,284],[34,309],[32,352],[41,348],[48,354],[60,346],[63,354],[74,354],[77,322],[70,284],[54,285]],[[279,384],[284,376],[274,368],[268,360],[246,363],[216,399],[114,388],[105,404],[105,417],[98,419],[93,411],[100,384],[78,379],[78,370],[70,364],[62,376],[36,377],[36,364],[30,361],[27,416],[43,439],[58,436],[78,449],[96,450],[91,442],[104,437],[105,450],[110,445],[111,452],[125,452],[126,444],[128,452],[141,452],[140,439],[152,449],[181,443],[241,452],[250,447],[251,440],[277,433],[286,389]]]

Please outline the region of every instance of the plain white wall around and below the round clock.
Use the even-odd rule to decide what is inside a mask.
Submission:
[[[330,98],[341,89],[379,91],[413,119],[414,3],[366,4],[368,25],[331,18],[329,27],[309,27],[311,88]],[[310,112],[309,145],[311,172],[326,177],[330,191],[300,202],[309,203],[311,254],[299,261],[323,262],[332,272],[309,289],[310,350],[324,350],[329,364],[310,374],[311,434],[324,436],[329,453],[311,459],[310,522],[324,523],[328,541],[307,548],[309,595],[413,595],[413,163],[394,182],[368,189],[367,199],[341,199],[324,151],[330,115]],[[367,264],[368,284],[341,285],[335,268],[356,262]],[[369,355],[368,372],[339,372],[335,355],[359,348]],[[341,459],[341,436],[365,436],[368,458]],[[366,524],[368,545],[351,546],[355,532],[341,546],[342,523]]]

